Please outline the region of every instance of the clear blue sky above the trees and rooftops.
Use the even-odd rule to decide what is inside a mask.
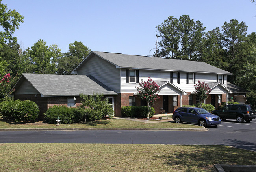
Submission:
[[[256,5],[250,0],[2,0],[25,17],[14,36],[23,49],[39,39],[67,52],[81,41],[92,51],[152,55],[155,27],[168,16],[186,14],[206,31],[230,19],[256,32]]]

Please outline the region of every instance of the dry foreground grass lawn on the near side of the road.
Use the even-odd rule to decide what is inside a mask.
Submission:
[[[221,145],[0,144],[1,171],[213,172],[214,164],[256,165],[256,152]]]

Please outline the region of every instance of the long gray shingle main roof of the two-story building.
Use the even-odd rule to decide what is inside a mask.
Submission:
[[[200,72],[200,73],[216,73],[232,75],[232,73],[216,68],[205,62],[195,62],[189,60],[163,59],[156,57],[126,55],[118,53],[106,53],[99,51],[92,51],[99,57],[108,62],[119,66],[120,68],[136,68],[136,69],[150,69],[150,70],[167,70],[167,71],[186,71],[186,72]],[[90,55],[91,55],[90,54]],[[89,55],[89,56],[90,56]],[[88,57],[89,57],[88,56]],[[83,60],[86,62],[86,59]],[[77,71],[83,62],[74,70]]]

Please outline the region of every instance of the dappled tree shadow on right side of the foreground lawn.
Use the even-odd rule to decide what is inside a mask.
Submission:
[[[184,145],[169,155],[155,158],[185,172],[213,171],[214,164],[256,164],[256,152],[221,145]]]

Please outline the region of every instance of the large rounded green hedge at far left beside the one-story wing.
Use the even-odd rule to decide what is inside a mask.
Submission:
[[[11,100],[0,102],[0,112],[8,121],[33,122],[37,120],[39,109],[37,104],[30,100]]]

